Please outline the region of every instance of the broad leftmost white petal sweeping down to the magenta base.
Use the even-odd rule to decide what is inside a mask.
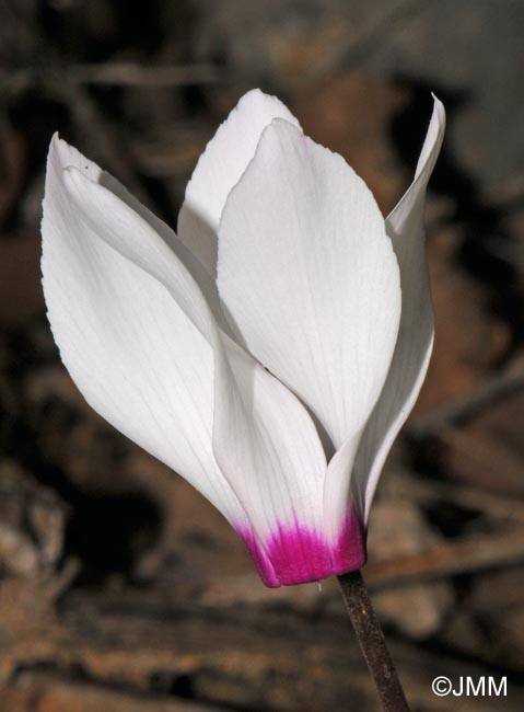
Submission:
[[[219,331],[191,275],[148,222],[74,168],[53,181],[46,298],[62,358],[89,402],[263,547],[281,525],[318,528],[326,462],[299,401]],[[194,461],[181,460],[181,437]],[[280,583],[270,562],[263,569],[267,583]]]

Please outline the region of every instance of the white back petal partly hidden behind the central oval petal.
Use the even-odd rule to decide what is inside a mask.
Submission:
[[[187,184],[178,237],[213,277],[217,228],[225,199],[255,154],[264,128],[277,117],[299,125],[276,96],[259,89],[247,92],[208,143]]]

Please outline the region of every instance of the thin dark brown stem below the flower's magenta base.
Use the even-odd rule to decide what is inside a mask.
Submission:
[[[384,712],[409,712],[384,633],[360,571],[337,576],[343,602],[381,698]]]

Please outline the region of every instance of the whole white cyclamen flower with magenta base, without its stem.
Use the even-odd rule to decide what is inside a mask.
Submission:
[[[377,480],[423,381],[426,187],[384,220],[345,160],[248,92],[201,156],[176,236],[55,137],[42,225],[61,358],[92,407],[182,474],[267,586],[360,569]]]

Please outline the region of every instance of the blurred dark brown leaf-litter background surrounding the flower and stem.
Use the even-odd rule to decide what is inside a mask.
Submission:
[[[2,712],[379,709],[335,582],[266,589],[214,509],[86,406],[45,317],[51,134],[175,227],[253,87],[384,214],[431,91],[446,105],[427,210],[434,356],[364,576],[414,710],[522,710],[523,26],[520,0],[0,2]],[[440,675],[506,676],[508,697],[438,698]]]

